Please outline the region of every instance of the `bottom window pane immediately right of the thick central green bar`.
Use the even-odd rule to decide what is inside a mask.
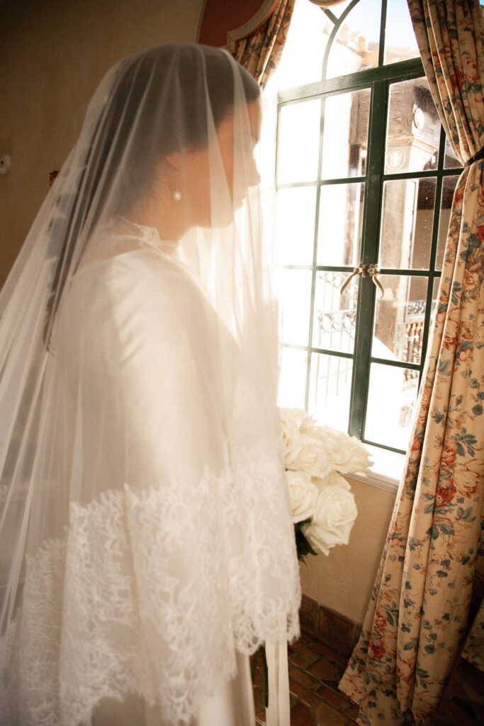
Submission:
[[[365,439],[406,450],[411,436],[418,386],[417,371],[372,363]]]

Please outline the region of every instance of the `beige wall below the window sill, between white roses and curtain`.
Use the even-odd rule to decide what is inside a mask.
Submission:
[[[348,478],[358,507],[358,518],[347,546],[329,555],[310,555],[300,565],[304,595],[355,623],[362,623],[380,564],[395,492]]]

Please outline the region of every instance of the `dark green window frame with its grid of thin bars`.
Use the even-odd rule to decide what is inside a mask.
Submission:
[[[312,0],[311,0],[312,1]],[[382,441],[373,441],[366,436],[365,423],[366,412],[368,409],[369,399],[369,376],[370,367],[373,364],[382,364],[385,366],[394,366],[401,369],[415,371],[419,378],[419,385],[424,370],[424,362],[427,353],[427,345],[430,331],[430,319],[432,314],[432,291],[434,289],[434,281],[440,278],[440,269],[436,267],[436,256],[438,249],[438,234],[440,222],[441,200],[443,192],[443,180],[445,177],[459,176],[462,168],[445,168],[444,160],[446,157],[446,135],[443,127],[440,126],[440,143],[438,149],[438,166],[429,171],[410,171],[396,174],[385,173],[385,142],[387,136],[387,108],[389,104],[390,86],[400,81],[409,81],[414,78],[424,76],[422,61],[417,58],[395,62],[384,65],[385,53],[385,21],[387,16],[387,0],[382,0],[382,15],[380,24],[380,51],[379,65],[376,68],[366,68],[345,76],[336,78],[326,78],[327,62],[329,52],[331,52],[332,41],[337,36],[337,31],[344,23],[353,7],[358,4],[359,0],[353,0],[348,7],[341,13],[340,17],[336,17],[331,10],[321,7],[321,12],[334,23],[334,28],[329,35],[327,49],[324,54],[324,62],[321,77],[323,80],[316,83],[305,84],[296,88],[279,91],[278,94],[278,120],[277,126],[279,130],[281,110],[284,106],[303,102],[307,99],[321,99],[321,126],[319,133],[319,148],[316,150],[318,154],[318,176],[316,181],[316,216],[314,219],[314,237],[313,237],[313,264],[312,265],[284,265],[284,269],[311,270],[311,310],[309,316],[309,330],[307,345],[298,345],[295,343],[284,343],[285,347],[295,348],[301,351],[307,351],[308,364],[305,380],[305,408],[308,409],[310,396],[311,381],[311,359],[313,353],[326,354],[330,356],[340,356],[342,358],[351,359],[353,364],[351,391],[350,391],[350,409],[348,420],[348,433],[356,436],[366,444],[377,446],[381,449],[405,454],[405,450],[398,446],[391,446],[382,443]],[[316,3],[317,4],[317,3]],[[327,98],[348,91],[358,91],[361,89],[370,89],[371,103],[369,110],[369,134],[367,160],[364,176],[350,176],[337,179],[321,179],[321,160],[322,160],[322,139],[324,131],[324,107]],[[279,131],[277,134],[279,139]],[[276,180],[277,166],[279,163],[279,149],[276,153]],[[372,284],[370,277],[360,277],[358,280],[358,301],[356,305],[356,337],[353,353],[345,353],[330,348],[317,348],[313,345],[313,325],[315,319],[315,292],[316,277],[319,272],[337,272],[348,274],[353,272],[353,266],[330,266],[317,264],[318,260],[318,230],[319,230],[319,200],[321,189],[325,184],[348,184],[349,182],[364,182],[364,209],[363,209],[363,226],[361,232],[361,264],[366,266],[377,264],[379,258],[380,247],[380,227],[382,224],[382,204],[383,194],[386,181],[415,179],[418,183],[420,179],[432,178],[436,180],[435,189],[435,207],[432,223],[432,241],[430,245],[430,261],[424,269],[402,269],[381,267],[380,275],[405,275],[411,277],[426,277],[427,282],[427,299],[425,305],[424,324],[422,333],[422,349],[419,363],[411,361],[399,361],[380,359],[372,354],[372,338],[374,328],[374,315],[376,305],[377,287]],[[276,189],[286,189],[289,187],[301,187],[307,185],[306,182],[278,184],[276,181]],[[311,185],[314,185],[311,182]]]

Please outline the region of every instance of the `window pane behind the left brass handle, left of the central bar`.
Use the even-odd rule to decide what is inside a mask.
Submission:
[[[348,277],[341,272],[319,272],[314,298],[313,347],[353,353],[358,285],[351,280],[343,295],[340,288]]]

